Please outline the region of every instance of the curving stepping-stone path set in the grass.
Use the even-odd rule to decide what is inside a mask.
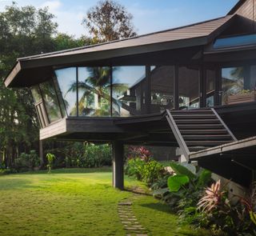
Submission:
[[[127,232],[126,236],[147,236],[146,229],[138,222],[131,209],[132,202],[139,198],[138,194],[118,202],[118,215]]]

